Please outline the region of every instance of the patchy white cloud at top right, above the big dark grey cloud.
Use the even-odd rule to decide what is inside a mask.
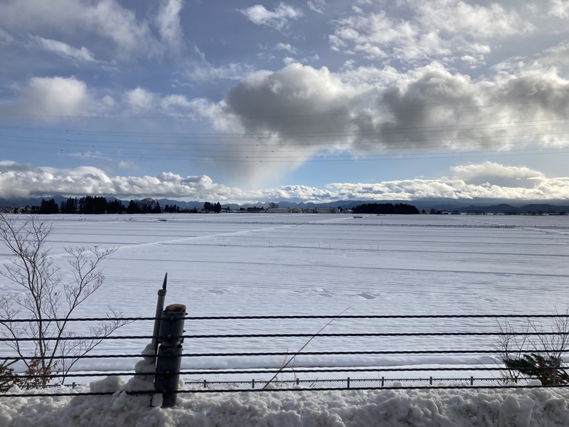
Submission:
[[[378,11],[378,6],[356,7],[351,16],[335,21],[331,48],[388,62],[465,57],[472,66],[474,58],[483,63],[492,43],[534,29],[515,9],[497,3],[486,7],[462,0],[403,0],[398,6],[408,9],[404,17]]]

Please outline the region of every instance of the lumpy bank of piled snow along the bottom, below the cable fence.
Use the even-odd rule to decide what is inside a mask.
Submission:
[[[569,390],[566,389],[180,394],[176,408],[162,409],[149,406],[149,395],[127,395],[124,391],[130,386],[132,384],[124,384],[120,379],[107,378],[75,391],[112,391],[115,393],[112,396],[0,397],[0,426],[569,425]],[[60,390],[69,392],[64,388]]]

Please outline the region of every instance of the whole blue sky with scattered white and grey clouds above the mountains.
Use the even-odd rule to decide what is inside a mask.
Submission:
[[[0,0],[0,198],[569,199],[569,1]]]

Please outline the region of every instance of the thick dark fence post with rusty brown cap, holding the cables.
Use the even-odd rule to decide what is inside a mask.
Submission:
[[[184,341],[184,316],[186,306],[171,304],[162,311],[156,360],[154,387],[162,394],[162,408],[176,406],[181,367],[181,343]]]

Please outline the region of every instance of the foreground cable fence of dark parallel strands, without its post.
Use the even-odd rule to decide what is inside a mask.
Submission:
[[[348,365],[345,358],[356,361],[366,358],[382,360],[385,357],[405,358],[440,358],[440,357],[484,357],[500,358],[507,350],[511,357],[521,357],[523,354],[559,354],[560,358],[566,356],[567,347],[554,347],[558,337],[565,338],[567,330],[516,330],[516,325],[524,322],[551,322],[555,319],[568,319],[568,315],[289,315],[289,316],[186,316],[186,330],[192,334],[184,333],[180,339],[184,340],[184,348],[190,351],[181,352],[181,369],[179,374],[184,379],[186,389],[178,393],[200,392],[240,392],[240,391],[283,391],[283,390],[323,390],[323,389],[423,389],[423,388],[498,388],[515,386],[536,386],[531,379],[535,374],[529,370],[506,369],[504,365],[484,366],[483,364],[467,365],[466,363],[441,364],[365,364],[354,362]],[[69,322],[100,322],[105,320],[124,320],[138,323],[139,330],[151,330],[148,322],[154,322],[156,317],[124,317],[121,319],[104,318],[78,318],[69,319]],[[2,325],[9,322],[33,322],[29,319],[0,319]],[[55,321],[55,320],[54,320]],[[290,321],[290,323],[288,323]],[[273,322],[273,323],[271,323]],[[309,322],[309,326],[307,326]],[[314,325],[324,324],[317,332]],[[326,329],[331,322],[334,328]],[[368,322],[368,332],[351,332],[353,322]],[[418,322],[420,328],[410,332],[409,328],[403,330],[398,327],[401,322]],[[442,326],[447,322],[447,326]],[[501,322],[501,323],[500,323]],[[228,327],[230,325],[230,327]],[[260,326],[262,325],[262,326]],[[275,327],[274,325],[278,325]],[[496,325],[509,325],[504,328]],[[132,327],[131,327],[132,329]],[[235,333],[238,329],[239,333]],[[230,330],[231,333],[226,331]],[[381,331],[381,332],[378,332]],[[515,346],[504,348],[504,342],[516,342],[516,337],[525,338],[525,347]],[[545,339],[543,339],[545,337]],[[144,344],[153,339],[160,340],[154,334],[111,334],[107,337],[93,337],[89,334],[65,337],[69,342],[80,342],[85,339],[129,340]],[[535,338],[536,340],[533,340]],[[36,342],[38,337],[21,337],[21,343]],[[43,337],[46,342],[53,337]],[[278,347],[280,343],[296,341],[304,343],[290,352],[286,348],[282,351],[266,351],[267,342],[277,340],[271,348]],[[358,343],[351,344],[349,349],[342,350],[341,342],[353,340]],[[405,339],[422,339],[423,343],[405,346]],[[540,341],[541,339],[541,341]],[[433,340],[436,343],[433,344]],[[512,341],[513,340],[513,341]],[[565,342],[566,339],[563,339]],[[220,342],[223,345],[220,345]],[[501,343],[496,345],[496,342]],[[521,342],[521,341],[520,341]],[[530,345],[531,342],[541,342],[542,347]],[[40,356],[17,357],[6,352],[6,344],[14,344],[14,338],[0,337],[0,364],[18,362],[21,359],[41,359]],[[205,343],[205,344],[204,344]],[[214,343],[210,345],[208,343]],[[316,344],[317,343],[317,344]],[[553,347],[547,347],[547,345]],[[502,346],[500,348],[500,345]],[[544,346],[544,347],[543,347]],[[223,347],[223,352],[217,350]],[[418,347],[422,349],[418,349]],[[231,349],[238,349],[232,351]],[[58,356],[59,357],[59,356]],[[61,359],[76,356],[63,355]],[[143,354],[85,354],[81,360],[87,359],[133,359],[144,357]],[[146,355],[148,357],[148,354]],[[275,359],[285,358],[281,365],[272,364]],[[297,364],[298,359],[304,362]],[[310,359],[310,358],[313,359]],[[314,359],[315,358],[315,359]],[[326,359],[328,358],[328,359]],[[344,358],[344,363],[335,365],[334,361]],[[295,360],[295,363],[287,361]],[[313,361],[319,360],[319,364]],[[325,362],[328,360],[329,362]],[[375,360],[375,359],[374,359]],[[322,362],[324,361],[324,362]],[[415,361],[416,362],[416,361]],[[271,365],[272,364],[272,365]],[[467,365],[467,366],[465,366]],[[564,380],[565,369],[563,364],[558,366],[538,367],[542,376],[555,377],[558,380],[550,382],[548,386],[566,386]],[[233,367],[233,369],[231,368]],[[237,368],[235,368],[237,367]],[[65,376],[66,384],[88,382],[92,377],[100,376],[137,376],[132,369],[124,371],[70,371]],[[465,375],[466,374],[466,375]],[[300,375],[313,376],[314,379],[299,378]],[[198,376],[198,380],[191,379]],[[420,376],[420,377],[418,377]],[[58,372],[21,372],[0,371],[0,384],[10,384],[29,378],[47,379],[50,384],[60,381]],[[324,377],[324,379],[322,379]],[[247,379],[245,379],[247,378]],[[258,379],[261,378],[261,379]],[[514,382],[515,380],[515,382]],[[543,382],[543,381],[542,381]],[[131,391],[133,394],[151,394],[154,391]],[[33,391],[29,392],[33,395]],[[45,391],[41,393],[46,396]],[[61,395],[61,393],[55,393]],[[70,394],[78,393],[70,391]],[[83,394],[91,394],[85,392]],[[16,394],[23,396],[23,394]],[[1,396],[1,395],[0,395]],[[11,396],[8,392],[4,396]]]

